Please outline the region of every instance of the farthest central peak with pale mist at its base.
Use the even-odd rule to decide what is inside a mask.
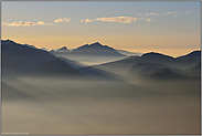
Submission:
[[[126,56],[113,48],[102,45],[99,42],[85,44],[72,51],[67,51],[65,48],[62,48],[61,50],[52,50],[50,53],[54,54],[55,56],[63,56],[67,60],[76,61],[87,65],[111,62]]]

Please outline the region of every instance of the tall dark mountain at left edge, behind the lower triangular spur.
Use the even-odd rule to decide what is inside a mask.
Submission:
[[[1,59],[2,73],[13,75],[30,72],[56,57],[40,49],[1,40]]]

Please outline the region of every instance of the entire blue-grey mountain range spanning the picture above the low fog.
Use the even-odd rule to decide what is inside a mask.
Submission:
[[[169,55],[149,52],[141,56],[125,56],[118,53],[115,49],[107,45],[102,45],[96,42],[79,46],[73,51],[68,51],[66,46],[57,51],[44,51],[15,43],[13,41],[1,40],[2,51],[2,74],[26,74],[34,75],[65,75],[65,76],[103,76],[115,77],[139,77],[142,75],[152,75],[161,69],[169,70],[172,73],[185,76],[200,76],[201,70],[201,51],[193,51],[187,55],[172,57]],[[74,55],[68,55],[68,54]],[[56,55],[54,53],[65,54]],[[74,59],[99,59],[105,57],[111,61],[114,57],[117,61],[86,66]],[[86,57],[85,57],[86,56]]]

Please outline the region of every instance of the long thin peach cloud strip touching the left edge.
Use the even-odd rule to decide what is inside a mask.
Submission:
[[[34,22],[29,22],[29,21],[20,21],[20,22],[12,22],[12,23],[8,23],[8,22],[2,22],[1,25],[11,25],[11,27],[32,27],[32,25],[53,25],[53,23],[46,23],[43,21],[38,21],[36,23]]]

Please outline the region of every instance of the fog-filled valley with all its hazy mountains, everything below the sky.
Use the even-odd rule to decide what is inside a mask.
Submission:
[[[200,134],[201,51],[172,57],[98,42],[73,51],[1,45],[2,133]]]

